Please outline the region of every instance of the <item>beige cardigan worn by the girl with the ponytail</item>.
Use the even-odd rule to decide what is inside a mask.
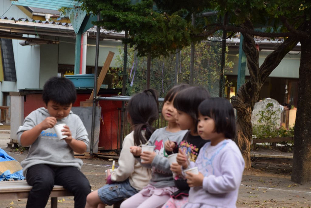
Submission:
[[[145,135],[145,130],[142,130],[142,135]],[[111,180],[121,182],[128,178],[133,188],[142,190],[151,179],[151,169],[142,167],[134,158],[130,152],[131,146],[134,146],[134,131],[123,139],[122,150],[118,160],[119,168],[111,174]]]

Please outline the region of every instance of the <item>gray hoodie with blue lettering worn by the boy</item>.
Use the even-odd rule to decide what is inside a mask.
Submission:
[[[48,116],[50,115],[46,108],[32,111],[17,130],[18,143],[21,144],[21,135],[24,131],[32,129]],[[88,147],[88,134],[79,116],[70,111],[67,117],[57,120],[57,124],[62,123],[69,126],[72,138],[83,141]],[[21,162],[24,176],[26,176],[27,169],[36,164],[49,164],[58,167],[73,166],[81,170],[83,162],[81,159],[75,158],[70,146],[64,140],[59,141],[54,129],[49,128],[43,130],[35,142],[30,145],[26,159]]]

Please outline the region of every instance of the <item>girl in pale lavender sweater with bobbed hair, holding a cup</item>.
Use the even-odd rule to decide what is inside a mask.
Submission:
[[[198,108],[197,130],[202,139],[210,139],[199,152],[195,163],[188,162],[179,150],[177,162],[183,170],[198,167],[199,174],[187,172],[190,187],[188,203],[183,208],[235,208],[244,170],[235,136],[235,119],[231,103],[215,97]]]

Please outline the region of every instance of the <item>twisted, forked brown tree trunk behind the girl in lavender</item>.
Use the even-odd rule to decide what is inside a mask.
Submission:
[[[253,29],[251,21],[246,21],[243,28]],[[237,91],[237,95],[231,97],[231,103],[236,109],[236,137],[235,142],[239,146],[245,160],[245,168],[251,168],[250,144],[252,139],[252,111],[258,101],[259,92],[270,73],[280,64],[284,56],[299,42],[297,37],[289,37],[276,50],[267,56],[259,67],[259,52],[256,48],[253,35],[242,33],[244,36],[243,51],[247,59],[250,80],[243,84]]]

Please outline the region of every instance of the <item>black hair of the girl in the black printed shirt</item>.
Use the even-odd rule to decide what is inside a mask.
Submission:
[[[192,117],[195,123],[195,133],[197,132],[197,107],[203,100],[210,97],[208,90],[203,87],[188,87],[180,91],[174,99],[174,107]]]

